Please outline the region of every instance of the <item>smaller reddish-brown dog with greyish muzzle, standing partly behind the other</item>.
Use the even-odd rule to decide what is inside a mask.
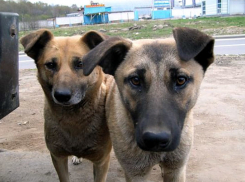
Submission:
[[[45,140],[61,182],[69,181],[69,155],[92,161],[94,181],[106,181],[112,148],[105,119],[106,77],[99,66],[84,76],[81,62],[105,38],[95,31],[54,37],[38,30],[21,39],[45,93]]]

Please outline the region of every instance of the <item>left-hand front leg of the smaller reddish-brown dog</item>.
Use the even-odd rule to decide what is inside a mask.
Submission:
[[[56,172],[59,176],[60,182],[69,182],[69,173],[68,173],[68,156],[57,157],[51,154],[51,158],[56,169]]]

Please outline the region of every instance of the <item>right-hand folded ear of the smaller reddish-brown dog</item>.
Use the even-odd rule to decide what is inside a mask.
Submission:
[[[109,36],[107,36],[103,33],[91,30],[91,31],[87,32],[86,34],[84,34],[81,39],[85,44],[87,44],[89,49],[93,49],[98,44],[100,44],[101,42],[103,42],[104,40],[106,40],[108,38],[109,38]]]

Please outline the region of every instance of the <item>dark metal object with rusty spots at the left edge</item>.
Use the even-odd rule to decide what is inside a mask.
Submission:
[[[0,12],[0,119],[19,106],[19,15]]]

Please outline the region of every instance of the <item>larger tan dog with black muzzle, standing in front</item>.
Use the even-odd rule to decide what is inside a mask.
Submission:
[[[174,39],[110,38],[84,58],[84,74],[97,64],[115,77],[106,116],[115,154],[127,182],[146,181],[160,164],[164,182],[184,182],[193,141],[194,107],[214,61],[214,39],[176,28]]]

